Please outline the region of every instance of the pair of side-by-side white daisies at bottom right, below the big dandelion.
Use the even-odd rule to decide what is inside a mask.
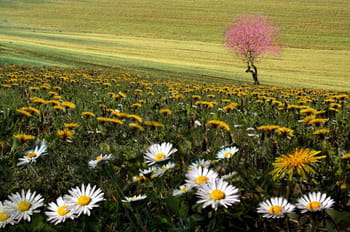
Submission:
[[[283,197],[273,197],[261,202],[257,212],[266,218],[281,218],[298,208],[301,213],[317,212],[329,209],[334,205],[334,200],[325,193],[310,192],[300,197],[295,205],[288,203]]]

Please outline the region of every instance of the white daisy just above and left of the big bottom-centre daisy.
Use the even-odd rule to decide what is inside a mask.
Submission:
[[[218,173],[208,168],[193,168],[186,173],[186,184],[190,186],[199,186],[206,184],[211,179],[216,179]]]

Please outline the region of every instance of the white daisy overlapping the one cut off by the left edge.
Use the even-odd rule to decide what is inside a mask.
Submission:
[[[40,194],[33,193],[30,189],[27,192],[16,192],[9,196],[10,200],[5,201],[5,206],[8,208],[9,215],[13,215],[14,220],[17,222],[27,220],[30,222],[30,216],[33,213],[39,213],[37,208],[44,205],[44,198]]]

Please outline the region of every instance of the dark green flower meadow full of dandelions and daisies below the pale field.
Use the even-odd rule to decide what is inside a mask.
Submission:
[[[29,189],[42,198],[30,221],[0,208],[5,231],[350,228],[349,92],[16,65],[1,67],[0,83],[0,201]],[[150,149],[164,142],[171,152]],[[235,188],[232,204],[203,207],[191,170]],[[103,198],[66,217],[53,204],[82,184]],[[327,198],[300,205],[312,192]],[[297,207],[261,206],[273,197]]]

